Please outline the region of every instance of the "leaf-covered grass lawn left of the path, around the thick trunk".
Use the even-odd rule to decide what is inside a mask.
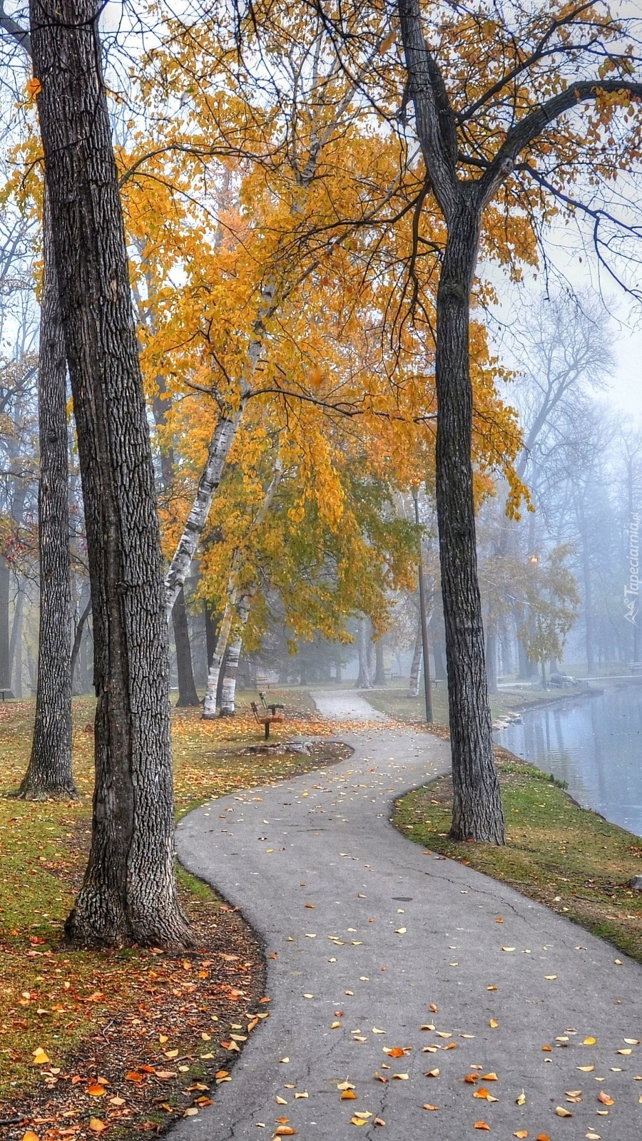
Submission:
[[[311,713],[305,694],[275,691],[274,699],[284,701],[288,717],[273,728],[274,742],[336,734],[336,725]],[[74,699],[80,799],[69,803],[8,795],[26,768],[33,707],[0,704],[0,1118],[11,1122],[5,1135],[22,1138],[27,1125],[40,1141],[96,1136],[104,1127],[155,1130],[198,1111],[209,1086],[227,1079],[240,1044],[268,1010],[263,956],[241,917],[183,873],[183,903],[202,941],[196,953],[65,944],[90,836],[94,702]],[[240,695],[239,709],[234,720],[216,721],[202,721],[200,710],[174,711],[177,812],[346,755],[324,744],[311,756],[250,753],[263,729],[249,697]]]

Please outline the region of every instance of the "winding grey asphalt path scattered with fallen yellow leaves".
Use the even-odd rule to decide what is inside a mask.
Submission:
[[[287,1125],[347,1141],[354,1118],[382,1141],[466,1141],[485,1132],[475,1123],[496,1141],[640,1141],[642,1045],[626,1039],[642,1038],[642,968],[392,827],[393,800],[448,768],[447,744],[386,722],[342,739],[348,761],[178,826],[182,864],[243,909],[274,957],[270,1018],[214,1106],[172,1135],[249,1141]],[[474,1073],[498,1081],[465,1083]],[[356,1100],[340,1098],[346,1078]],[[480,1086],[498,1100],[475,1099]]]

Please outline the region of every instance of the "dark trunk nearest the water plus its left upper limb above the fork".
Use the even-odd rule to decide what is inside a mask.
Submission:
[[[481,191],[476,184],[457,178],[455,118],[424,39],[419,0],[399,0],[399,15],[426,175],[447,224],[436,298],[435,466],[452,754],[450,834],[455,840],[500,844],[504,814],[492,748],[478,582],[468,330],[481,218],[500,179],[498,175],[497,183]]]

